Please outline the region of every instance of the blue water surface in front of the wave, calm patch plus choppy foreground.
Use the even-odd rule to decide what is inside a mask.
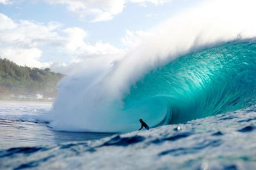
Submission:
[[[255,106],[113,135],[53,131],[47,123],[36,121],[49,109],[51,104],[1,103],[0,169],[256,167]]]

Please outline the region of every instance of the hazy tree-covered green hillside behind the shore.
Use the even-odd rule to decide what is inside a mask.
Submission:
[[[28,66],[19,66],[8,59],[0,59],[0,97],[8,95],[35,95],[56,97],[57,83],[64,75]]]

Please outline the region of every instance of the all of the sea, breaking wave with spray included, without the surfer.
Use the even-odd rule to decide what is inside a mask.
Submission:
[[[255,4],[200,2],[77,66],[54,104],[1,104],[0,169],[255,169]]]

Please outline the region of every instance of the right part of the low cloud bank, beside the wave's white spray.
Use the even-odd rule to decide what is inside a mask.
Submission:
[[[89,73],[94,68],[96,70],[98,68],[110,68],[113,65],[113,61],[121,59],[125,54],[125,50],[118,49],[110,43],[99,41],[91,44],[86,42],[88,33],[79,27],[70,27],[64,29],[63,32],[67,37],[65,51],[68,56],[72,56],[72,62],[68,65],[54,63],[51,65],[52,70],[61,70],[66,74]]]

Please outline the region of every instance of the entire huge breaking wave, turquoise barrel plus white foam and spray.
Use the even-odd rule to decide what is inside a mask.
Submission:
[[[152,29],[123,59],[64,79],[51,127],[127,132],[140,118],[157,127],[255,104],[256,12],[246,2],[202,3]]]

